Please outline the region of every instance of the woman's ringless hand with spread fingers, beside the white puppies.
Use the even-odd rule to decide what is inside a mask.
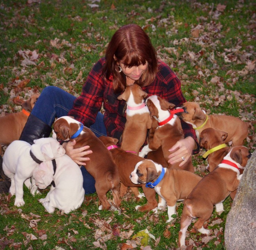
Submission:
[[[89,149],[90,146],[83,146],[81,148],[74,149],[74,145],[76,144],[76,141],[70,141],[70,142],[64,142],[62,145],[64,149],[66,150],[66,154],[78,165],[86,165],[82,161],[89,161],[89,157],[84,157],[87,154],[91,154],[91,150],[86,150]]]

